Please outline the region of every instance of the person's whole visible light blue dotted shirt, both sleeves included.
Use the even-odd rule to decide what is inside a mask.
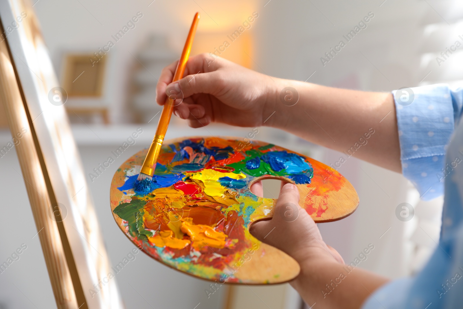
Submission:
[[[411,92],[413,100],[409,100]],[[443,194],[445,181],[441,237],[416,276],[385,284],[362,308],[462,308],[463,165],[458,163],[463,162],[463,123],[456,126],[462,113],[463,88],[452,90],[438,84],[411,91],[399,89],[393,94],[404,176],[413,182],[423,199]]]

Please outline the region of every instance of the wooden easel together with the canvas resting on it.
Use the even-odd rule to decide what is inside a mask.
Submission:
[[[95,293],[109,259],[31,3],[1,0],[0,19],[0,98],[12,134],[26,130],[16,151],[57,306],[124,308],[114,278]]]

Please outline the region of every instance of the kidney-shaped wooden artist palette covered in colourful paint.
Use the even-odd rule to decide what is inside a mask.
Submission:
[[[298,263],[250,232],[271,218],[276,200],[250,185],[263,178],[295,183],[300,206],[315,222],[342,219],[358,206],[353,186],[336,170],[294,151],[232,137],[166,140],[151,184],[133,185],[147,149],[120,166],[111,210],[125,235],[152,258],[187,274],[228,283],[277,284],[299,274]]]

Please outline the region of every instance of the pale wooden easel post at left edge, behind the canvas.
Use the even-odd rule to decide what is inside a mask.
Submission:
[[[6,40],[0,42],[0,101],[5,106],[11,133],[14,135],[25,131],[21,143],[16,145],[16,152],[29,195],[32,214],[39,232],[38,236],[44,252],[57,308],[77,309],[79,305],[66,262],[63,243],[56,221],[50,215],[53,212],[51,211],[49,192]]]

